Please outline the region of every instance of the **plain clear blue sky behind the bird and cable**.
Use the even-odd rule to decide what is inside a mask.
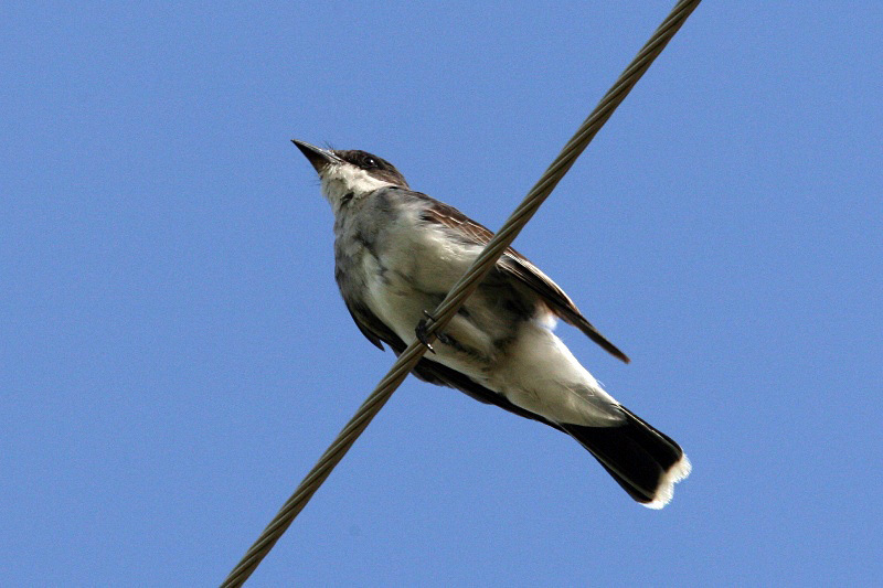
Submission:
[[[386,372],[288,142],[499,226],[671,2],[0,8],[0,566],[219,584]],[[869,584],[883,4],[706,2],[515,243],[694,471],[409,378],[252,586]]]

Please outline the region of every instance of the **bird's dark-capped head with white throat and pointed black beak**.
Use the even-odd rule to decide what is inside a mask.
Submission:
[[[408,188],[405,177],[383,158],[359,150],[322,149],[291,140],[322,181],[322,195],[337,212],[380,188]]]

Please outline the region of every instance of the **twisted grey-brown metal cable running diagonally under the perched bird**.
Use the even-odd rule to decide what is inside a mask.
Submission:
[[[481,279],[490,271],[497,259],[502,255],[509,245],[514,240],[528,221],[539,210],[540,205],[552,193],[567,170],[576,161],[576,158],[588,146],[595,135],[604,124],[610,118],[614,110],[626,98],[628,93],[640,79],[650,64],[662,52],[674,33],[681,28],[691,12],[699,6],[700,0],[681,0],[672,9],[671,13],[662,21],[653,35],[638,55],[626,67],[625,72],[616,81],[616,84],[604,95],[600,103],[592,114],[579,126],[576,135],[564,146],[564,149],[555,158],[555,161],[543,173],[536,185],[528,193],[524,201],[519,205],[512,215],[506,221],[497,235],[488,243],[481,254],[472,263],[472,266],[451,288],[448,296],[433,312],[435,320],[432,320],[426,329],[428,340],[432,342],[434,333],[443,329],[454,317],[466,298],[477,288]],[[331,473],[334,466],[343,459],[343,456],[355,442],[355,439],[368,427],[371,419],[383,408],[390,399],[395,388],[407,377],[411,370],[417,364],[426,346],[421,342],[414,342],[398,356],[398,360],[390,368],[386,376],[381,379],[374,392],[365,399],[352,419],[343,427],[334,442],[331,443],[318,463],[310,470],[307,477],[300,482],[295,493],[283,505],[273,521],[267,525],[258,539],[252,545],[242,560],[233,568],[230,576],[221,585],[222,588],[242,586],[252,575],[255,568],[269,553],[279,537],[285,533],[295,517],[306,506],[312,494],[319,489],[326,478]]]

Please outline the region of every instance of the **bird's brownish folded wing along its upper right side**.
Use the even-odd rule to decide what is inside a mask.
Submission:
[[[454,206],[438,202],[425,194],[414,193],[415,196],[427,200],[429,206],[425,210],[423,220],[437,223],[453,229],[453,234],[471,244],[487,245],[493,233],[487,227],[476,223]],[[595,327],[583,317],[573,300],[564,293],[557,284],[543,274],[526,257],[509,247],[497,261],[497,269],[536,292],[549,309],[564,322],[583,331],[592,341],[604,348],[608,353],[628,363],[628,356],[616,345],[610,343]]]

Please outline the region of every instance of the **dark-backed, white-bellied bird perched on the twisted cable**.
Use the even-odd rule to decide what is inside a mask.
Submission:
[[[412,373],[573,437],[638,503],[661,509],[690,474],[681,447],[610,396],[553,328],[562,320],[614,357],[552,279],[508,248],[429,344],[426,319],[493,233],[411,190],[389,161],[294,139],[334,215],[334,279],[362,334],[398,355],[429,346]]]

